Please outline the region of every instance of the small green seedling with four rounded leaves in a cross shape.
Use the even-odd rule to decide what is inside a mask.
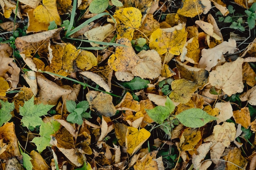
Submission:
[[[67,111],[70,113],[67,116],[67,121],[72,124],[83,124],[83,118],[91,118],[91,114],[85,112],[89,108],[89,103],[87,101],[81,101],[76,105],[73,100],[68,100]]]

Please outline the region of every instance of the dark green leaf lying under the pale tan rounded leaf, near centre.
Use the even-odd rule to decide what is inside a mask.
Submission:
[[[125,88],[130,90],[140,90],[142,88],[148,87],[147,84],[150,84],[149,80],[141,79],[140,77],[134,77],[130,82],[121,83]]]

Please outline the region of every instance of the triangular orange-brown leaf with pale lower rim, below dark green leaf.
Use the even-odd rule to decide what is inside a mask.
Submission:
[[[138,112],[140,110],[139,102],[134,100],[129,92],[126,92],[122,101],[115,107],[117,110],[131,110],[134,112]]]

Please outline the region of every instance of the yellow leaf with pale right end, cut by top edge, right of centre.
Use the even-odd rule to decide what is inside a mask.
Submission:
[[[182,1],[182,6],[178,9],[177,14],[183,15],[185,17],[195,17],[196,15],[200,15],[201,13],[208,13],[211,9],[211,1],[210,0],[184,0]]]

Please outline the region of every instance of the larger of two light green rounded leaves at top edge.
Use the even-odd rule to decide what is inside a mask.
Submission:
[[[90,3],[89,11],[91,13],[101,13],[108,8],[108,0],[93,0]]]

